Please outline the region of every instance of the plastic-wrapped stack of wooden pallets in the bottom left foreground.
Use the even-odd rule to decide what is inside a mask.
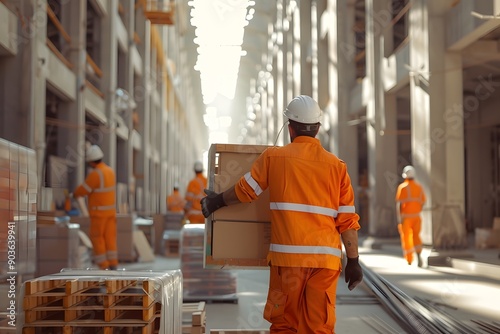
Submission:
[[[23,293],[23,333],[182,331],[180,270],[66,270],[27,281]]]

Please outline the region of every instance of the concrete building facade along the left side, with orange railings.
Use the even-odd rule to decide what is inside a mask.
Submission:
[[[167,1],[0,3],[0,137],[36,150],[39,190],[74,189],[85,145],[98,144],[118,205],[166,211],[206,149],[181,77],[184,14]]]

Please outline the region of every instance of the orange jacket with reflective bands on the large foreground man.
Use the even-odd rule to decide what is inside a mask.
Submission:
[[[341,237],[358,230],[354,192],[345,163],[318,139],[300,136],[264,151],[238,181],[242,202],[269,188],[271,245],[275,266],[341,270]]]

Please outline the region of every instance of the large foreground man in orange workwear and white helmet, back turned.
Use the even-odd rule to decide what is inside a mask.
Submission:
[[[342,243],[349,290],[363,279],[359,216],[346,164],[315,138],[322,117],[316,101],[300,95],[284,115],[291,143],[265,150],[250,172],[225,192],[205,190],[203,214],[208,217],[223,206],[251,202],[269,189],[270,280],[264,318],[271,323],[271,333],[331,334]]]

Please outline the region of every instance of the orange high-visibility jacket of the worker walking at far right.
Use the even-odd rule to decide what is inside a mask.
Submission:
[[[400,203],[401,219],[418,217],[425,199],[424,190],[417,181],[407,179],[401,183],[396,191],[396,202]]]

